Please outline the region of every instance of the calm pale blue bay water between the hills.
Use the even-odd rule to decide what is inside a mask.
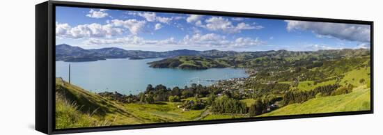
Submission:
[[[71,83],[93,92],[117,91],[123,94],[138,94],[148,84],[153,87],[162,84],[166,87],[214,84],[215,81],[238,77],[248,77],[244,69],[211,68],[208,70],[179,70],[152,68],[148,62],[162,58],[143,60],[108,59],[106,61],[68,63],[56,61],[56,77],[68,81],[68,65],[71,65]]]

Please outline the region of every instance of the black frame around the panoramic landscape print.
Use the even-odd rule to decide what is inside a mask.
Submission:
[[[162,13],[187,13],[198,15],[219,15],[230,17],[256,17],[264,19],[289,19],[309,22],[336,22],[347,24],[370,25],[370,111],[346,111],[334,113],[299,114],[291,116],[268,116],[261,118],[235,118],[221,120],[185,121],[185,122],[164,122],[140,125],[118,125],[107,127],[81,127],[75,129],[55,129],[55,19],[56,6],[68,6],[79,8],[107,8],[118,10],[152,11]],[[210,10],[189,10],[178,8],[155,8],[145,6],[122,6],[102,3],[79,3],[69,1],[46,1],[36,5],[36,130],[45,134],[63,134],[77,132],[100,132],[120,129],[142,129],[153,127],[173,127],[186,125],[207,125],[227,122],[252,122],[263,120],[282,120],[292,118],[315,118],[324,116],[346,116],[357,114],[373,113],[373,22],[349,19],[328,19],[318,17],[295,17],[285,15],[262,15],[253,13],[231,13]]]

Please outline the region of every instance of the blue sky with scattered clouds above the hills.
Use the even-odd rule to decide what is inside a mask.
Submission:
[[[58,6],[60,44],[144,51],[369,49],[370,26]]]

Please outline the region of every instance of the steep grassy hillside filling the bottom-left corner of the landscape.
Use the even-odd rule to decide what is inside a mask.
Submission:
[[[124,110],[122,104],[56,79],[56,128],[88,125],[120,125],[143,122]],[[81,105],[80,105],[81,104]]]

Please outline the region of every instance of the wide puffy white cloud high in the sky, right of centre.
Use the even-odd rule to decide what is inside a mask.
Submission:
[[[233,25],[228,19],[224,17],[210,17],[205,20],[205,25],[201,21],[196,22],[196,26],[203,27],[209,31],[223,31],[224,33],[239,33],[242,30],[249,29],[262,29],[263,26],[251,26],[250,24],[245,24],[244,22],[238,23],[236,26]]]

